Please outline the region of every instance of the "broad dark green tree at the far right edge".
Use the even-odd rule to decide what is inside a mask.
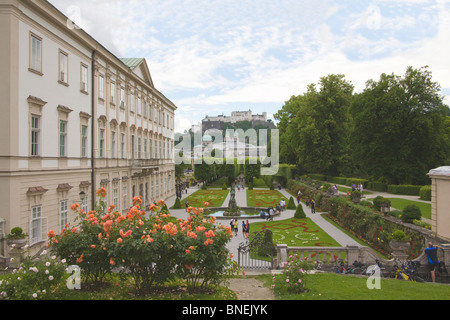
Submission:
[[[393,184],[429,183],[449,156],[440,87],[426,67],[369,80],[351,106],[351,150],[361,172]]]

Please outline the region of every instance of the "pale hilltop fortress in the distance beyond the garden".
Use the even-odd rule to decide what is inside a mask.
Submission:
[[[231,116],[218,115],[215,117],[206,116],[202,120],[202,131],[205,132],[208,129],[223,129],[224,124],[236,124],[241,121],[249,121],[252,124],[252,128],[255,126],[264,126],[267,129],[275,129],[275,124],[271,120],[267,120],[267,113],[252,114],[251,110],[248,111],[233,111]]]

